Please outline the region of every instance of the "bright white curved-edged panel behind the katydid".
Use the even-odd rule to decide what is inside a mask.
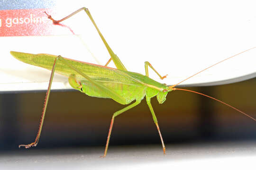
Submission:
[[[88,7],[110,47],[128,70],[145,74],[144,61],[149,61],[160,74],[168,74],[163,81],[152,70],[149,76],[168,85],[256,46],[255,1],[232,2],[232,7],[223,1],[132,2],[60,3],[55,18],[82,6]],[[49,81],[48,70],[24,64],[9,51],[50,53],[97,64],[107,62],[109,54],[86,14],[81,12],[63,24],[79,36],[63,27],[68,35],[0,37],[0,92],[46,90]],[[110,67],[114,65],[111,63]],[[181,85],[220,85],[255,76],[254,49]],[[52,89],[70,88],[66,77],[55,76]]]

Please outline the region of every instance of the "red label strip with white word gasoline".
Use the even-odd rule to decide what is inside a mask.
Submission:
[[[44,12],[54,15],[52,9],[0,10],[0,36],[33,36],[72,34],[56,26]]]

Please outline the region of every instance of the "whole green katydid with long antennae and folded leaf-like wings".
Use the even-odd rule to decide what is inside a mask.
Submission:
[[[50,80],[49,80],[48,90],[46,92],[46,99],[45,99],[43,113],[42,113],[42,117],[40,120],[39,130],[38,130],[36,139],[31,144],[21,144],[21,145],[19,145],[19,147],[24,146],[25,148],[29,148],[31,146],[37,145],[40,134],[41,134],[41,130],[43,127],[43,122],[44,122],[44,118],[45,118],[45,114],[46,114],[46,107],[47,107],[47,103],[48,103],[48,99],[49,99],[53,76],[54,76],[54,73],[57,72],[64,76],[68,76],[69,84],[74,89],[79,90],[82,93],[86,93],[89,96],[101,97],[101,98],[111,98],[111,99],[115,100],[116,102],[119,102],[120,104],[129,104],[130,102],[135,101],[132,104],[125,107],[124,109],[116,111],[113,114],[111,123],[110,123],[109,134],[107,137],[107,143],[105,146],[105,151],[104,151],[104,154],[102,157],[105,157],[107,155],[108,146],[109,146],[109,142],[110,142],[110,135],[111,135],[115,117],[120,115],[121,113],[135,107],[137,104],[139,104],[141,102],[141,100],[145,96],[146,96],[146,103],[149,107],[149,110],[152,114],[155,125],[157,127],[157,130],[158,130],[161,142],[162,142],[162,146],[163,146],[163,151],[165,154],[165,144],[164,144],[161,132],[160,132],[160,128],[158,126],[155,112],[150,103],[150,99],[152,97],[156,96],[157,101],[161,104],[161,103],[165,102],[167,93],[174,91],[174,90],[183,90],[183,91],[198,93],[198,92],[194,92],[194,91],[190,91],[190,90],[186,90],[186,89],[175,88],[175,86],[179,85],[183,81],[191,78],[192,76],[195,76],[195,75],[201,73],[202,71],[204,71],[212,66],[215,66],[216,64],[219,64],[220,62],[223,62],[223,61],[230,59],[232,57],[235,57],[243,52],[246,52],[246,51],[256,48],[256,47],[253,47],[246,51],[242,51],[242,52],[240,52],[236,55],[233,55],[227,59],[219,61],[218,63],[216,63],[208,68],[205,68],[204,70],[186,78],[185,80],[183,80],[175,85],[168,86],[165,84],[158,83],[155,80],[149,78],[148,67],[152,68],[161,79],[164,79],[167,75],[161,76],[155,70],[155,68],[153,68],[152,65],[147,61],[145,62],[146,76],[141,75],[139,73],[127,71],[125,66],[120,61],[120,59],[111,50],[110,46],[104,39],[99,28],[97,27],[93,18],[91,17],[91,13],[89,12],[88,8],[80,8],[77,11],[70,14],[69,16],[64,17],[61,20],[54,20],[50,15],[48,15],[48,14],[46,14],[46,15],[48,16],[49,19],[51,19],[53,21],[53,23],[57,24],[69,17],[72,17],[74,14],[76,14],[82,10],[84,10],[86,12],[86,14],[88,15],[88,17],[91,19],[92,24],[96,28],[102,41],[105,44],[107,50],[110,53],[111,58],[109,59],[109,61],[107,62],[107,64],[105,66],[86,63],[86,62],[82,62],[82,61],[76,61],[76,60],[72,60],[72,59],[63,58],[62,56],[55,56],[55,55],[50,55],[50,54],[29,54],[29,53],[15,52],[15,51],[10,52],[11,55],[13,55],[16,59],[18,59],[20,61],[51,70],[51,76],[50,76]],[[113,60],[116,68],[107,67],[107,65],[110,63],[111,60]],[[206,97],[210,97],[210,96],[202,94],[202,93],[198,93],[198,94],[204,95]],[[249,118],[256,121],[256,119],[254,119],[251,116],[247,115],[246,113],[230,106],[229,104],[219,101],[213,97],[210,97],[210,98],[214,99],[218,102],[221,102],[221,103],[239,111],[240,113],[243,113],[244,115],[246,115]]]

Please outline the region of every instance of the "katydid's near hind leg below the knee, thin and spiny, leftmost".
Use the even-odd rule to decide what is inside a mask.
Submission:
[[[36,139],[31,144],[20,144],[20,145],[18,145],[19,148],[21,146],[24,146],[25,148],[30,148],[31,146],[37,146],[37,143],[39,141],[39,137],[41,135],[41,131],[42,131],[42,128],[43,128],[45,115],[46,115],[46,108],[47,108],[47,105],[48,105],[48,100],[49,100],[49,96],[50,96],[50,92],[51,92],[51,86],[52,86],[52,81],[53,81],[55,67],[56,67],[56,60],[57,60],[57,58],[54,60],[54,64],[53,64],[53,68],[52,68],[52,72],[51,72],[51,76],[50,76],[50,80],[49,80],[49,85],[48,85],[48,89],[47,89],[47,92],[46,92],[44,108],[43,108],[42,116],[41,116],[41,119],[40,119],[39,129],[38,129],[38,132],[37,132]]]

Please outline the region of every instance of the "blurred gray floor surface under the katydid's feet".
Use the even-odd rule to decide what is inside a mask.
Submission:
[[[21,149],[0,153],[1,170],[256,170],[256,142]]]

